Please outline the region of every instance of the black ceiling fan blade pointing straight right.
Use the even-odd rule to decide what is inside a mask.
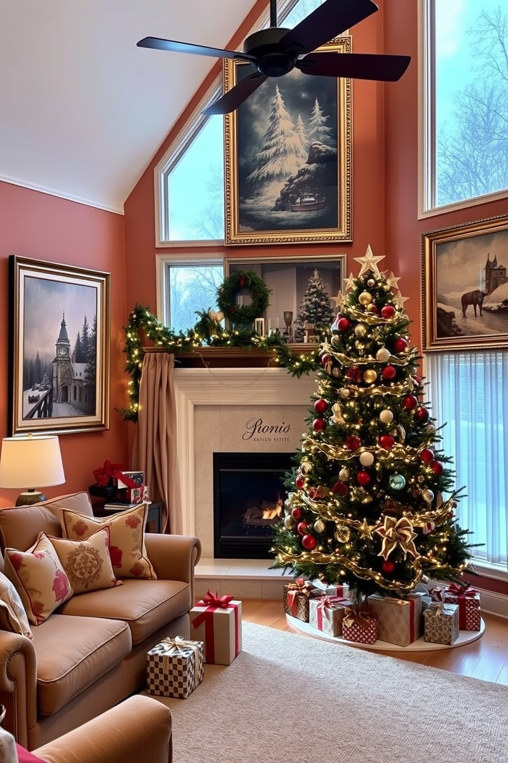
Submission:
[[[296,62],[304,74],[320,77],[352,77],[396,82],[404,74],[411,56],[382,56],[375,53],[309,53]]]

